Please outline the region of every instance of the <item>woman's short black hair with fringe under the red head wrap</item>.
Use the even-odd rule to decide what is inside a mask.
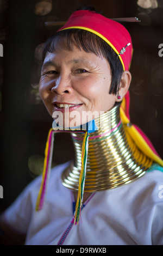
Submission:
[[[94,10],[91,10],[94,11]],[[65,41],[66,39],[66,41]],[[111,86],[110,94],[117,94],[123,67],[116,52],[103,39],[96,34],[83,29],[65,29],[52,35],[43,46],[43,59],[47,52],[54,52],[57,47],[57,42],[62,44],[68,50],[72,50],[73,46],[83,49],[85,52],[95,53],[97,56],[104,57],[108,60],[111,69]]]

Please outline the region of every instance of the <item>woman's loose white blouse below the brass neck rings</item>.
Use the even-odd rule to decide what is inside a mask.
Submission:
[[[82,210],[82,221],[74,225],[72,192],[60,179],[68,164],[52,169],[41,211],[35,211],[41,176],[5,211],[7,223],[27,234],[26,245],[163,245],[160,170],[147,172],[127,185],[91,194]]]

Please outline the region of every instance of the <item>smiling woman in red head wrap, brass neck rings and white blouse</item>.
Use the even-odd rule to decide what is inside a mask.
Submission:
[[[42,182],[2,217],[16,244],[163,244],[162,160],[129,119],[132,53],[126,28],[89,10],[74,12],[47,40],[40,96],[53,129]],[[71,133],[76,157],[49,176],[57,132]]]

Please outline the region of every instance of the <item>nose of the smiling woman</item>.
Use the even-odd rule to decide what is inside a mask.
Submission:
[[[73,88],[71,86],[71,80],[65,76],[59,76],[54,82],[51,91],[57,93],[58,95],[72,93]]]

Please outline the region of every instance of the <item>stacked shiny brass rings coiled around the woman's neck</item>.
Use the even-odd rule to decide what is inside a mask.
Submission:
[[[126,133],[121,123],[120,104],[95,119],[98,130],[90,133],[85,192],[109,190],[140,178],[151,166],[148,159]],[[62,173],[62,184],[78,191],[83,133],[71,134],[75,159]]]

